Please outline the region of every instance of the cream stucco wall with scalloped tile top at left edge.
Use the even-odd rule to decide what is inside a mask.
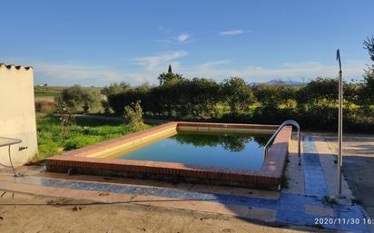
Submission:
[[[37,153],[34,110],[34,72],[31,67],[0,63],[0,137],[21,139],[11,146],[15,165]],[[19,151],[20,146],[26,150]],[[0,162],[9,165],[8,149],[0,148]]]

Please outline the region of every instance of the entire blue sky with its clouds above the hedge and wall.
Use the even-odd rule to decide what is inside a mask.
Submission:
[[[360,79],[374,35],[372,0],[3,1],[0,63],[34,67],[34,83],[158,83],[187,78],[306,82]]]

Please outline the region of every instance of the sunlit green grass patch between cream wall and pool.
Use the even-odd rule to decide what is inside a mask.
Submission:
[[[75,119],[67,136],[61,133],[59,118],[56,116],[37,117],[36,125],[39,154],[33,161],[131,133],[121,122],[83,118]]]

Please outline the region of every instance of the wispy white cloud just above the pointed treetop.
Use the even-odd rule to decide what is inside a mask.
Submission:
[[[158,56],[140,57],[136,59],[136,64],[143,66],[146,70],[158,70],[161,66],[174,62],[175,59],[186,56],[188,53],[185,51],[174,51],[162,53]],[[163,67],[164,68],[164,67]]]

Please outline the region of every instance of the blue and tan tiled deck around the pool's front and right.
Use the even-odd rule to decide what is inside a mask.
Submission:
[[[302,149],[302,165],[299,166],[297,141],[291,141],[290,162],[286,169],[289,189],[282,189],[281,192],[152,180],[68,176],[41,172],[40,167],[18,169],[25,174],[18,178],[13,178],[10,173],[2,173],[0,189],[104,203],[189,209],[257,220],[265,225],[314,226],[369,232],[369,225],[362,223],[369,216],[359,205],[351,203],[353,196],[346,181],[343,182],[345,199],[337,199],[338,204],[329,204],[323,200],[325,196],[336,193],[336,164],[329,143],[304,134]],[[358,218],[360,224],[329,223],[330,219],[343,221],[350,218]],[[328,222],[315,224],[316,219],[327,219]]]

